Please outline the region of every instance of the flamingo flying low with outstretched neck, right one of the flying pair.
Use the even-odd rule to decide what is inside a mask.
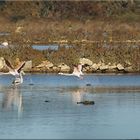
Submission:
[[[58,73],[60,75],[66,75],[66,76],[77,76],[79,78],[83,78],[81,77],[81,75],[84,75],[83,72],[82,72],[82,64],[79,64],[79,65],[74,65],[74,68],[73,68],[73,73],[71,74],[68,74],[68,73]]]

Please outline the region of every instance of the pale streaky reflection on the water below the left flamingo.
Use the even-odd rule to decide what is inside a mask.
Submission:
[[[23,111],[22,94],[20,86],[9,87],[3,94],[2,108],[7,111],[17,110],[18,115]]]

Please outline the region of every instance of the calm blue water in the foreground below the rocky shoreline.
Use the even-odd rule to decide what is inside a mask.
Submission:
[[[0,76],[1,139],[140,138],[140,75],[27,74],[17,87],[12,79]]]

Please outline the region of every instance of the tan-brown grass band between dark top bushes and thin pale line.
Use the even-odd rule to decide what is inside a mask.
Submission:
[[[138,41],[139,22],[119,22],[102,20],[48,20],[28,19],[16,24],[0,19],[0,32],[9,35],[0,36],[0,41],[12,43],[47,44],[61,42],[88,41]]]

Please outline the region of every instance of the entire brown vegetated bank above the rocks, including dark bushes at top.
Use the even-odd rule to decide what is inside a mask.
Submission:
[[[32,60],[33,67],[44,60],[72,66],[84,57],[139,72],[138,5],[133,0],[1,2],[0,42],[7,41],[9,47],[0,48],[0,56],[15,65],[17,58]],[[59,49],[34,50],[35,44],[57,44]]]

